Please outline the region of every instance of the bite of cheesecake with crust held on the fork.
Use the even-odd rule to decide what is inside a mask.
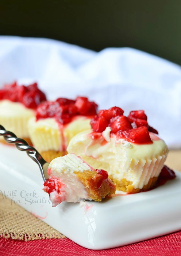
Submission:
[[[115,185],[104,170],[95,170],[81,157],[68,154],[51,161],[47,171],[49,179],[43,190],[49,193],[52,206],[59,203],[95,200],[115,193]]]

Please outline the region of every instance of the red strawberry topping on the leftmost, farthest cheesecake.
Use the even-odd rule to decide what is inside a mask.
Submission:
[[[18,86],[14,82],[12,84],[5,84],[3,89],[0,90],[0,100],[3,99],[20,102],[26,108],[36,109],[41,102],[46,101],[46,96],[38,89],[37,83],[28,86]]]

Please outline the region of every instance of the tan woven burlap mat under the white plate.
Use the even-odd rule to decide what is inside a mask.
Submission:
[[[170,151],[166,165],[181,171],[181,150]],[[61,233],[36,218],[9,199],[0,196],[0,237],[19,240],[65,238]]]

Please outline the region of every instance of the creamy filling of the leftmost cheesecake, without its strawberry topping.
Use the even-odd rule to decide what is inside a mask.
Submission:
[[[33,116],[35,110],[26,108],[20,102],[0,101],[0,124],[19,138],[29,138],[28,120]],[[3,137],[0,137],[0,140],[3,140]]]

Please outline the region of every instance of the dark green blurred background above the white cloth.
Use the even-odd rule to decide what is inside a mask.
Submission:
[[[0,34],[128,46],[181,64],[181,0],[1,0]]]

